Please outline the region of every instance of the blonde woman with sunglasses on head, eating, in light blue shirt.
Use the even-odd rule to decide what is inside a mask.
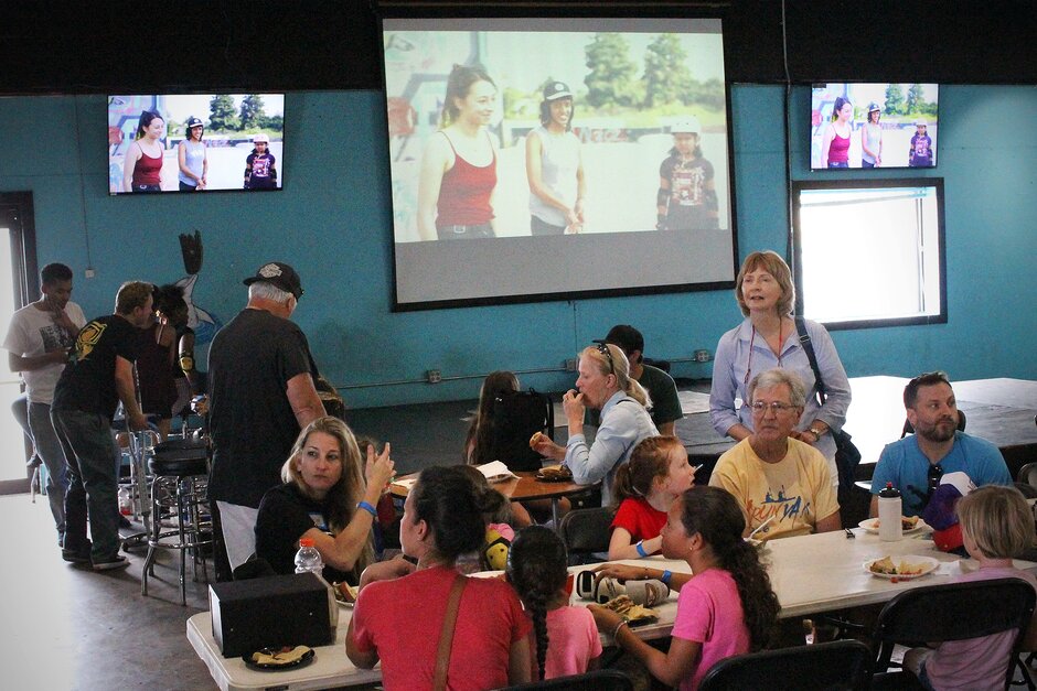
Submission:
[[[543,456],[560,461],[581,485],[601,481],[601,505],[612,501],[616,469],[630,458],[641,440],[659,435],[645,407],[648,391],[630,378],[630,364],[619,346],[597,343],[579,354],[576,389],[562,397],[569,427],[565,446],[545,435],[534,438],[533,449]],[[588,446],[584,436],[586,408],[601,411],[595,441]]]

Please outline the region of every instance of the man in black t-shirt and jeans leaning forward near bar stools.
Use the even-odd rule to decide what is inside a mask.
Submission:
[[[140,281],[124,283],[116,295],[115,314],[99,316],[79,330],[51,404],[51,420],[68,464],[62,558],[93,564],[95,571],[128,563],[119,554],[119,478],[111,418],[121,401],[130,428],[148,428],[137,403],[133,361],[137,330],[151,320],[153,289]],[[87,515],[93,546],[86,538]]]

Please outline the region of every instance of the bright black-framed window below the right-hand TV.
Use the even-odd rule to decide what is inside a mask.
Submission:
[[[798,312],[831,328],[947,322],[943,179],[792,185]]]

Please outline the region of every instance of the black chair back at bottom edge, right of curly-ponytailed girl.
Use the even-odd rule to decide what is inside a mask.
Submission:
[[[867,689],[872,651],[859,640],[737,655],[714,665],[699,691]]]

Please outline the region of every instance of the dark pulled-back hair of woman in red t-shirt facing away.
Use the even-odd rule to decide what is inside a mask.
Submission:
[[[432,466],[421,471],[410,489],[414,520],[424,520],[432,533],[435,555],[453,562],[474,552],[487,539],[483,514],[499,501],[481,492],[460,466]]]

